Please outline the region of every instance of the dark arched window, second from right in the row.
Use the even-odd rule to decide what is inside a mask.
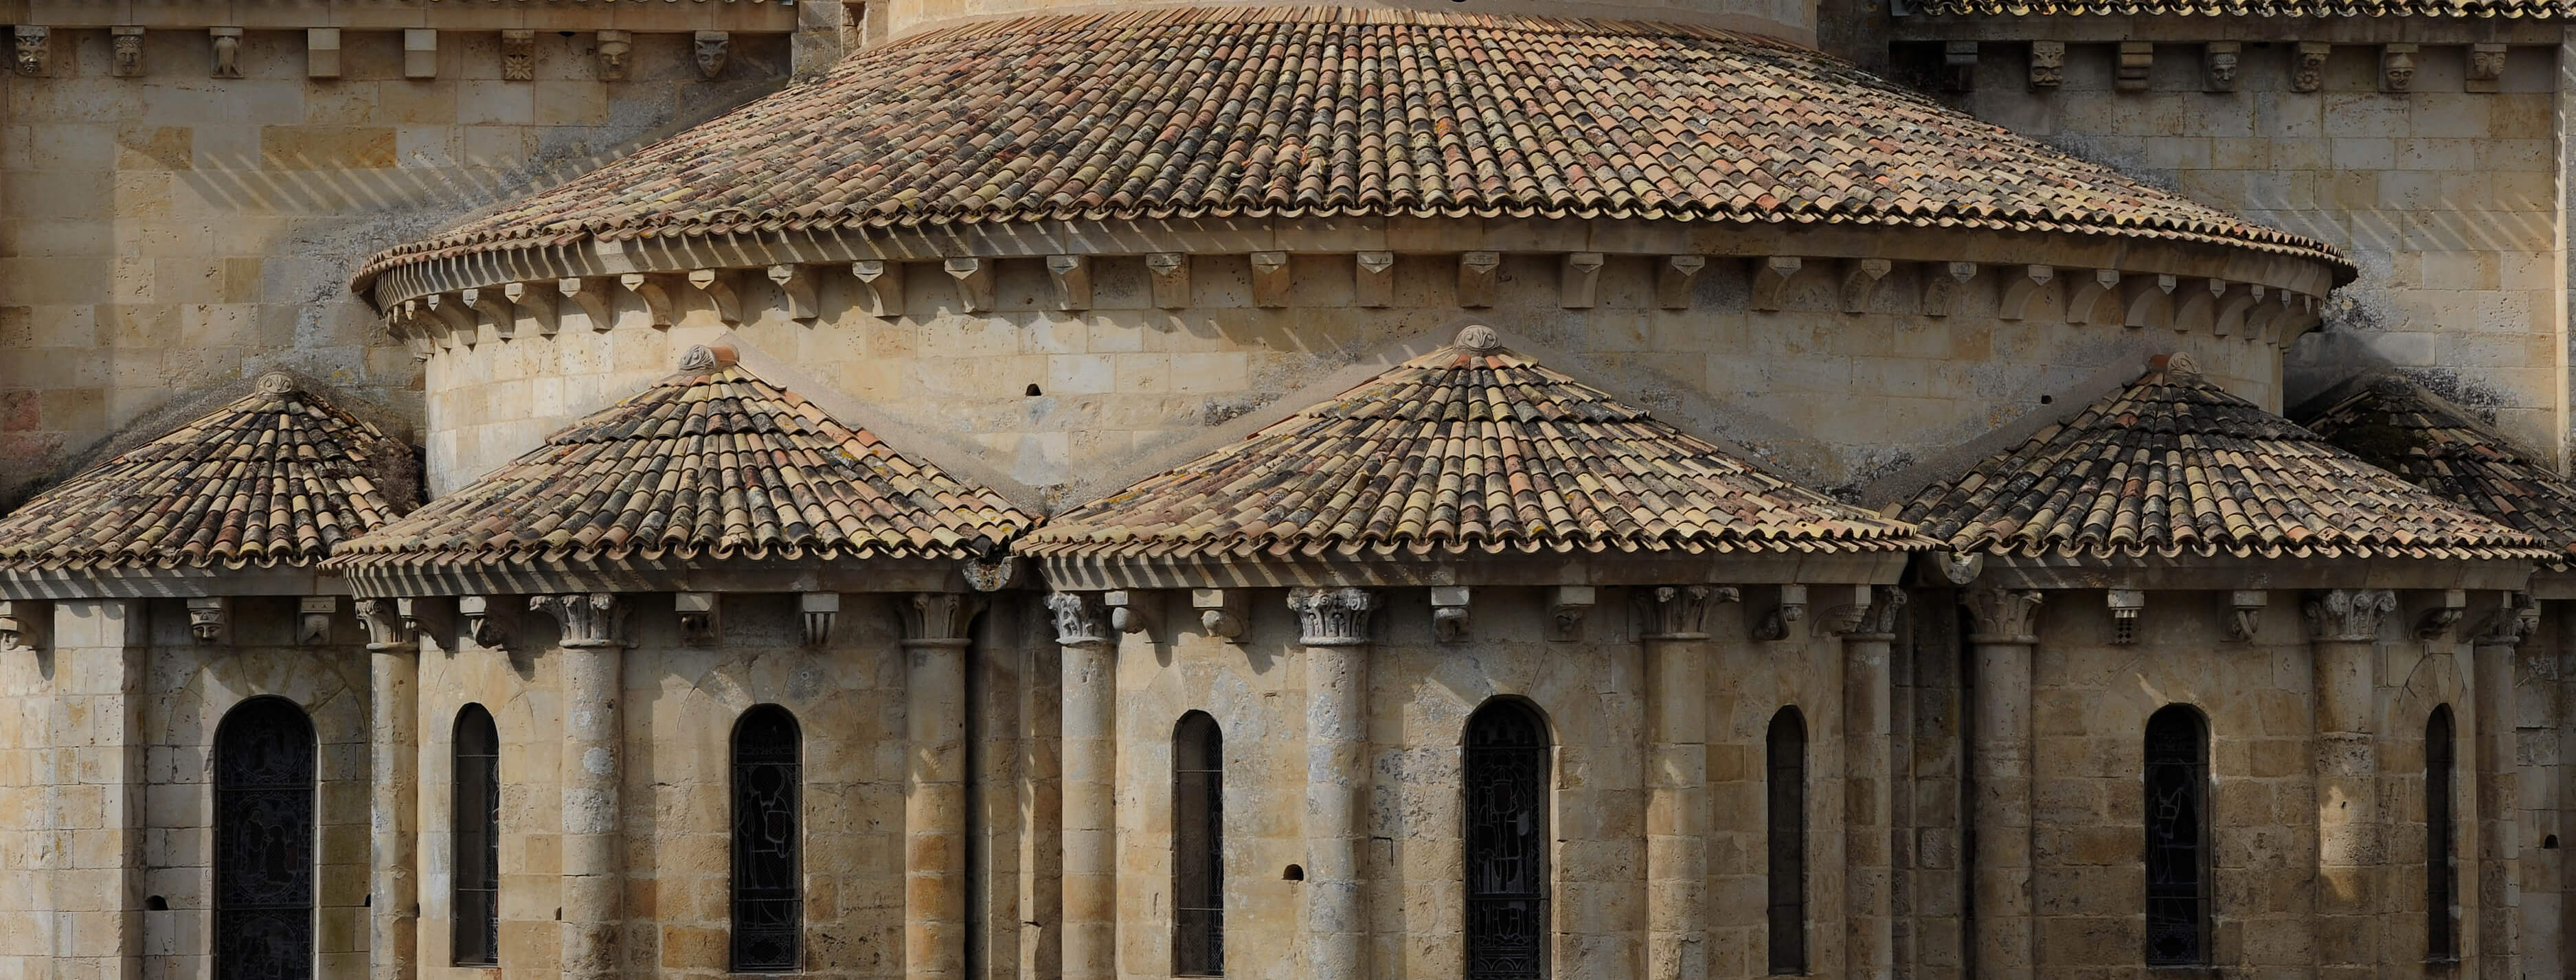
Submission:
[[[2187,705],[2146,720],[2146,962],[2210,962],[2210,725]]]

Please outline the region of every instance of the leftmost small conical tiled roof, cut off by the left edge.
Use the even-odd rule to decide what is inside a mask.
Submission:
[[[263,376],[0,517],[0,571],[304,566],[415,504],[410,458],[291,376]]]

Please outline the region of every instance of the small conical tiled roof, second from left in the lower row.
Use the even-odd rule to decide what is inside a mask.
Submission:
[[[835,422],[721,350],[353,540],[340,566],[966,558],[1033,517]]]

